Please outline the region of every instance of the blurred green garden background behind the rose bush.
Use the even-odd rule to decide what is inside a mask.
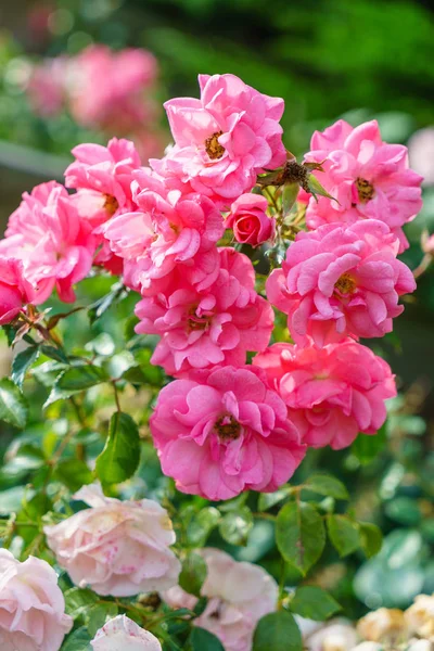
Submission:
[[[315,129],[341,116],[353,125],[375,117],[391,142],[411,144],[414,132],[434,128],[434,27],[427,1],[14,0],[2,2],[0,25],[2,228],[23,191],[62,179],[74,144],[107,139],[77,126],[66,113],[36,116],[22,84],[28,63],[74,55],[92,42],[153,52],[159,103],[197,95],[197,73],[231,72],[263,92],[283,97],[285,145],[297,155],[308,149]],[[163,111],[158,119],[169,142]],[[433,166],[431,153],[432,175]],[[423,230],[434,231],[434,186],[425,184],[424,200],[422,214],[407,229],[411,247],[404,259],[412,268],[422,258]],[[373,342],[401,388],[376,447],[326,451],[304,465],[304,473],[310,463],[344,478],[358,515],[378,522],[387,536],[380,557],[344,564],[330,556],[316,577],[353,614],[360,613],[360,603],[405,607],[418,592],[434,590],[433,281],[430,269],[393,335]],[[116,340],[111,318],[100,329]],[[155,474],[155,467],[145,472]],[[4,472],[1,481],[14,486],[4,483]],[[267,523],[259,523],[241,556],[272,567],[267,531]]]

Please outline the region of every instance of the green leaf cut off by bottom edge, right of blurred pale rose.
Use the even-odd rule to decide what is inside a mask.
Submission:
[[[252,651],[302,651],[302,634],[291,613],[278,611],[259,620]]]

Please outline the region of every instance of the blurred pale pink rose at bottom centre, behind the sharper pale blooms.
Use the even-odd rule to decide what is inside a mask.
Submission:
[[[208,602],[194,625],[218,637],[226,651],[251,651],[257,623],[277,610],[277,583],[263,567],[237,562],[219,549],[205,548],[197,553],[206,561],[201,595]],[[179,608],[182,602],[192,607],[197,601],[179,587],[170,588],[163,598],[171,608]]]

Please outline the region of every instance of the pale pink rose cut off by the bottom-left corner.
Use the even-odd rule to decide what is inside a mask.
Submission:
[[[59,651],[72,627],[54,570],[35,557],[21,563],[0,549],[1,651]]]

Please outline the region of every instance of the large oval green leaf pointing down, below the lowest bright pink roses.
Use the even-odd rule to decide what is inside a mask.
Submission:
[[[306,575],[326,545],[326,529],[318,511],[306,502],[285,505],[277,516],[276,542],[284,560]]]

